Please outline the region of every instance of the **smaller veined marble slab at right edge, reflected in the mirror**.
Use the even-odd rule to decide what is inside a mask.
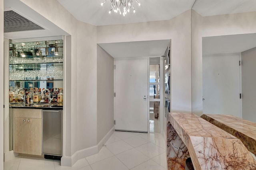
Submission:
[[[233,115],[204,114],[201,117],[240,139],[256,155],[256,123]]]

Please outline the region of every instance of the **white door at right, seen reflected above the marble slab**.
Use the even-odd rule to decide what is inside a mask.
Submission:
[[[240,115],[239,55],[203,57],[203,113]]]

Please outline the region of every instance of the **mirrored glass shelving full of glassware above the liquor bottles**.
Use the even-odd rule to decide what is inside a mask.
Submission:
[[[63,40],[10,43],[9,86],[63,88]]]

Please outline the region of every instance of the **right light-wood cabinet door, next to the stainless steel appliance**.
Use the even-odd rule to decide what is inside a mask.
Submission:
[[[42,119],[28,118],[28,154],[42,154]]]

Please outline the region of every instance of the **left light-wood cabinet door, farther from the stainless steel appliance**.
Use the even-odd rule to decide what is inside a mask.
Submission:
[[[28,122],[26,120],[24,117],[15,117],[14,152],[17,153],[28,153]]]

